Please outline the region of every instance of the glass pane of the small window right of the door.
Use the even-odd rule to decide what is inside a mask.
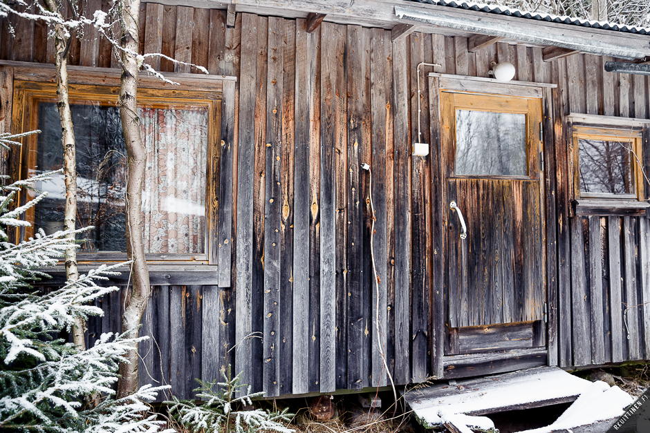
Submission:
[[[579,139],[580,191],[633,194],[630,142]]]

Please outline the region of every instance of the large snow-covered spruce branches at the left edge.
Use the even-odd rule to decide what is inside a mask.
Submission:
[[[126,398],[113,397],[111,386],[118,381],[118,365],[132,340],[103,334],[93,347],[79,352],[57,338],[75,317],[102,314],[89,302],[117,290],[96,281],[115,275],[118,265],[102,265],[39,294],[30,282],[46,278],[37,268],[57,264],[70,246],[64,239],[68,232],[40,231],[20,244],[8,242],[8,229],[28,226],[21,214],[45,194],[13,211],[10,203],[20,189],[47,178],[44,174],[0,186],[0,431],[158,432],[165,423],[143,402],[154,400],[160,388],[147,385]]]

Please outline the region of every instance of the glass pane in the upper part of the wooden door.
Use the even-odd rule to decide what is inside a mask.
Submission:
[[[456,110],[456,175],[526,174],[525,114]]]

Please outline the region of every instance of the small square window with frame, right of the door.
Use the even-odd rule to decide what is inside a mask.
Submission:
[[[568,116],[575,213],[644,213],[643,137],[637,119]]]

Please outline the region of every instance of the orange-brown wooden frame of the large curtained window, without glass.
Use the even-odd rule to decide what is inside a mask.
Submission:
[[[56,84],[42,81],[14,81],[12,129],[13,131],[32,131],[37,129],[38,104],[45,101],[56,101]],[[221,133],[221,99],[222,92],[218,90],[192,90],[183,86],[176,90],[165,86],[163,88],[138,88],[138,104],[146,106],[204,106],[208,109],[208,154],[205,177],[205,249],[204,253],[175,254],[148,253],[149,264],[216,264],[217,248],[214,234],[218,224],[219,199],[219,164]],[[119,87],[101,84],[70,84],[69,95],[72,104],[84,101],[100,104],[117,104]],[[14,179],[24,179],[29,168],[34,166],[37,154],[37,136],[31,135],[21,140],[19,152],[12,152],[10,173]],[[31,164],[31,165],[30,165]],[[20,203],[27,201],[26,191],[19,197]],[[26,214],[26,218],[34,221],[34,208]],[[33,230],[33,227],[30,227]],[[17,231],[15,239],[24,239],[32,235],[32,231]],[[126,253],[77,253],[77,260],[84,262],[121,262],[127,259]]]

